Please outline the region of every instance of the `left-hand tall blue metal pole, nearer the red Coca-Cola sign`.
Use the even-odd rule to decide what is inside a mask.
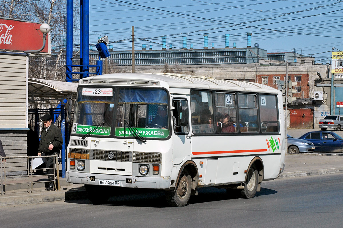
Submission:
[[[67,65],[73,64],[71,58],[73,58],[73,0],[67,0]],[[66,72],[66,81],[71,82],[73,79],[72,67],[67,66]]]

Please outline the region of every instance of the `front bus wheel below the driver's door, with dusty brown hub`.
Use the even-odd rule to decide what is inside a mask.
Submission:
[[[180,179],[174,192],[165,192],[167,203],[170,206],[186,206],[192,191],[192,177],[188,170],[182,170]]]

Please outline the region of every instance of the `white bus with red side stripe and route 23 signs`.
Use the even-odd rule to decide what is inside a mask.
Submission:
[[[200,187],[252,198],[282,173],[282,94],[266,85],[178,74],[79,81],[66,179],[92,202],[116,188],[165,190],[185,206]]]

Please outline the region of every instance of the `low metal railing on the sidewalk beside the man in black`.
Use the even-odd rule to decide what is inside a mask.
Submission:
[[[0,191],[0,195],[3,194],[7,194],[7,185],[16,185],[16,184],[22,184],[22,183],[28,183],[28,186],[31,187],[31,190],[27,189],[27,192],[33,192],[33,185],[34,183],[39,183],[39,182],[51,182],[51,180],[41,180],[41,181],[33,181],[33,169],[31,169],[31,171],[29,170],[29,159],[34,159],[36,157],[54,157],[54,166],[52,168],[39,168],[39,169],[34,169],[34,170],[43,170],[43,169],[54,169],[53,174],[45,174],[45,175],[39,175],[39,176],[49,176],[49,175],[53,175],[54,176],[54,187],[55,189],[57,189],[56,187],[56,180],[57,180],[57,185],[58,185],[58,190],[61,191],[60,188],[60,176],[59,176],[59,169],[58,169],[58,155],[47,155],[47,156],[5,156],[5,157],[1,157],[0,159],[0,185],[1,185],[1,191]],[[27,181],[22,181],[22,182],[15,182],[15,183],[6,183],[6,163],[10,160],[10,159],[20,159],[20,158],[26,158],[27,159],[27,168],[25,170],[16,170],[16,171],[26,171],[26,173],[28,173],[28,175],[22,175],[21,177],[26,177],[27,176]],[[3,162],[2,159],[7,159],[7,162]],[[55,176],[56,173],[56,176]],[[8,176],[9,177],[9,176]],[[7,178],[8,178],[7,177]],[[5,191],[3,192],[3,186],[5,187]]]

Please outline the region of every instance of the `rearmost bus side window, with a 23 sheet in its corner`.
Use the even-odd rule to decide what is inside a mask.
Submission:
[[[261,132],[279,132],[276,96],[260,94],[259,98]]]

